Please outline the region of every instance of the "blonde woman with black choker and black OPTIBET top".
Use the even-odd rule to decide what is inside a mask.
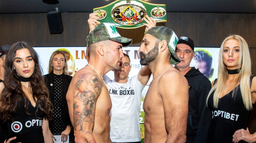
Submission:
[[[238,142],[233,134],[239,129],[246,130],[256,101],[255,92],[256,78],[251,76],[248,45],[243,37],[230,35],[221,44],[218,79],[212,82],[207,97],[213,114],[208,143]]]

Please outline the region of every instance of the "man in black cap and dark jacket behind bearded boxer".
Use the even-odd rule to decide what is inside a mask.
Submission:
[[[194,53],[194,41],[186,36],[179,38],[176,54],[180,58],[180,63],[175,68],[181,72],[188,80],[188,120],[187,120],[187,141],[186,143],[207,142],[208,127],[207,115],[212,114],[206,108],[206,98],[211,89],[211,82],[198,69],[190,67],[189,64]],[[204,115],[204,112],[207,115]],[[210,116],[211,117],[211,116]]]

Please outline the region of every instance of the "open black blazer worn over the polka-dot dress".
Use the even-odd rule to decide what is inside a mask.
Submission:
[[[72,127],[70,117],[69,117],[69,114],[68,114],[68,103],[67,103],[67,99],[66,99],[66,94],[68,92],[68,87],[69,87],[69,84],[70,84],[71,80],[72,80],[71,76],[63,74],[63,79],[62,79],[62,81],[63,81],[62,95],[63,96],[61,98],[61,103],[62,103],[61,111],[62,111],[62,118],[63,118],[64,123],[66,125],[69,125],[69,126]],[[44,75],[44,81],[46,83],[47,88],[49,89],[50,101],[53,104],[53,101],[54,101],[53,72]],[[52,121],[49,121],[49,124],[51,124],[51,122]]]

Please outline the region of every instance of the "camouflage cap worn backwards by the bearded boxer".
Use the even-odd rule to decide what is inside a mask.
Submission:
[[[173,32],[172,29],[169,29],[165,26],[155,26],[155,27],[148,29],[146,34],[150,34],[161,41],[166,40],[168,43],[167,44],[168,49],[171,52],[171,59],[170,59],[171,64],[179,64],[180,63],[180,59],[177,56],[177,54],[175,53],[175,47],[178,42],[178,37],[176,36],[176,34]]]

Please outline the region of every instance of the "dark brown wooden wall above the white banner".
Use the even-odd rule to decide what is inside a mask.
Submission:
[[[35,47],[86,46],[89,13],[61,13],[62,34],[50,34],[46,15],[0,14],[0,45],[28,41]],[[169,12],[167,20],[166,23],[157,23],[157,26],[167,26],[177,36],[190,37],[196,47],[220,47],[229,34],[243,36],[250,47],[252,74],[256,75],[256,14]],[[122,36],[133,39],[132,46],[140,46],[144,29],[144,26],[136,29],[117,28]],[[255,116],[253,114],[250,124],[250,130],[254,132]]]

